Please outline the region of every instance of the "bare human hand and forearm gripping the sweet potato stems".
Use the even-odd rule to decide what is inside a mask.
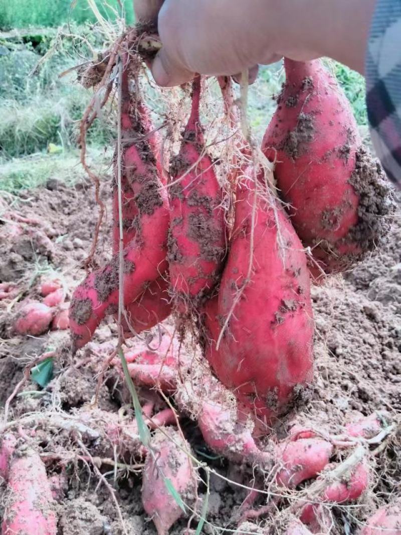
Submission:
[[[376,0],[135,0],[142,21],[158,17],[163,48],[151,65],[160,86],[194,73],[235,75],[282,56],[330,56],[363,71]]]

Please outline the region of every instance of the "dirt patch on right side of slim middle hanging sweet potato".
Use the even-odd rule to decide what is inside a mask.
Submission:
[[[205,260],[220,261],[225,251],[215,246],[221,239],[221,229],[207,219],[203,213],[191,213],[188,221],[188,238],[196,241]]]

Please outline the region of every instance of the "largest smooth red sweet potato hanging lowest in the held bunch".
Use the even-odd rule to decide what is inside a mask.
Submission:
[[[218,353],[207,353],[219,380],[261,424],[304,399],[313,375],[306,257],[279,204],[266,195],[250,179],[237,186],[218,299],[219,318],[228,324]]]

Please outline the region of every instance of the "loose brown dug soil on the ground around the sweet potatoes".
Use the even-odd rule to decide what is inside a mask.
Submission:
[[[307,134],[307,129],[305,132]],[[48,274],[50,267],[57,270],[68,288],[67,301],[71,290],[85,273],[82,265],[90,249],[97,216],[93,188],[87,182],[80,182],[74,188],[67,188],[57,181],[57,187],[54,187],[53,182],[51,188],[21,192],[21,202],[13,206],[13,210],[20,210],[25,217],[39,218],[43,222],[34,231],[46,236],[50,244],[46,241],[47,245],[43,246],[43,240],[27,240],[26,232],[10,240],[7,238],[10,235],[8,232],[11,232],[7,225],[10,224],[0,224],[0,282],[20,280],[17,300],[0,301],[2,406],[22,378],[24,366],[31,358],[60,345],[68,349],[68,333],[64,331],[49,332],[41,337],[21,337],[15,335],[11,328],[13,314],[18,308],[17,301],[39,299],[38,284],[41,277]],[[110,187],[111,180],[105,178],[102,198],[106,203],[109,202]],[[111,257],[110,214],[109,208],[109,217],[104,221],[99,235],[95,265],[102,265]],[[28,232],[28,228],[22,227]],[[317,326],[316,371],[311,400],[297,415],[300,422],[313,422],[338,433],[345,423],[357,415],[369,415],[375,410],[387,411],[391,418],[401,414],[400,243],[401,221],[398,211],[390,238],[378,254],[344,277],[333,277],[327,279],[325,284],[313,287]],[[28,429],[35,426],[35,444],[43,454],[48,454],[44,458],[47,459],[49,476],[57,476],[63,481],[57,496],[58,535],[123,533],[112,492],[119,504],[126,533],[156,535],[155,526],[142,507],[140,469],[119,469],[117,479],[114,479],[114,468],[102,465],[100,470],[110,484],[108,488],[103,480],[99,480],[90,462],[76,457],[79,452],[76,434],[67,429],[56,432],[40,423],[41,414],[47,414],[45,411],[53,410],[60,415],[73,417],[82,408],[90,410],[98,374],[113,350],[116,332],[115,323],[109,318],[98,328],[94,339],[74,357],[66,350],[63,360],[56,359],[53,379],[46,387],[27,384],[22,388],[23,395],[11,404],[9,421],[25,418]],[[129,343],[135,347],[140,342]],[[115,371],[107,371],[99,391],[99,409],[106,414],[113,413],[110,421],[114,421],[119,411],[128,410],[129,403],[130,396],[124,381]],[[96,413],[93,415],[94,421],[89,419],[88,429],[94,427],[96,431]],[[285,434],[288,423],[282,422],[277,433]],[[182,417],[181,426],[199,460],[234,482],[252,486],[250,467],[224,460],[207,449],[201,432],[191,419]],[[94,439],[96,432],[83,436],[86,437],[84,444],[88,449],[91,445],[95,446],[90,437]],[[365,521],[377,506],[385,505],[389,498],[394,500],[401,496],[400,443],[400,437],[392,438],[388,446],[377,454],[370,492],[361,499],[357,513],[352,507],[334,508],[335,524],[331,533],[356,534],[358,521]],[[102,444],[98,442],[96,455],[111,455],[112,452]],[[202,470],[199,476],[204,478]],[[246,495],[241,487],[212,474],[208,521],[220,528],[235,529],[233,518]],[[202,500],[205,499],[205,486],[202,484],[198,487],[198,499],[199,507],[202,507]],[[1,503],[2,500],[0,522],[4,513]],[[246,523],[246,532],[280,533],[277,529],[281,524],[274,514]],[[176,522],[170,533],[195,533],[197,521],[193,519],[187,531],[188,518],[189,515]],[[273,525],[276,528],[273,529]],[[205,524],[202,533],[213,531]]]

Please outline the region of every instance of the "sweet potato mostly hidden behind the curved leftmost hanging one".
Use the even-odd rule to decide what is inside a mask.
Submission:
[[[127,318],[133,330],[139,334],[148,331],[158,323],[163,322],[172,311],[171,300],[168,297],[169,282],[166,275],[151,282],[145,292],[127,308]],[[126,338],[132,336],[125,318],[122,319],[122,328]]]

